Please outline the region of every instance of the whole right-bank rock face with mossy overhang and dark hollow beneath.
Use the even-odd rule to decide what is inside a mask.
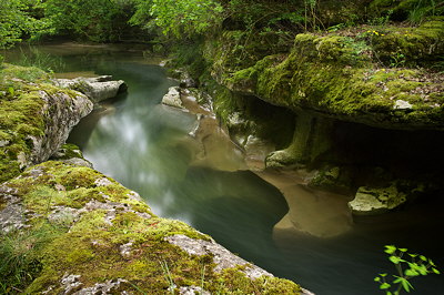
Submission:
[[[359,196],[355,214],[385,212],[438,189],[442,18],[301,33],[287,52],[271,55],[254,53],[260,37],[240,47],[239,35],[225,30],[205,42],[215,81],[206,87],[239,144],[248,150],[242,139],[250,134],[276,146],[266,167],[311,171],[307,187]]]

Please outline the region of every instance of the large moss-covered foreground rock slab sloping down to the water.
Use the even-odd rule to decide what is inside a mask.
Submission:
[[[189,225],[155,216],[137,193],[89,167],[44,162],[6,182],[0,195],[2,241],[51,232],[38,247],[26,241],[38,265],[22,266],[32,276],[26,293],[304,292]]]

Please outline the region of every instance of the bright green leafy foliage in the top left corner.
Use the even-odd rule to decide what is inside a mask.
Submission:
[[[39,8],[40,1],[0,1],[0,48],[9,48],[20,42],[23,35],[32,38],[49,30],[46,20],[37,19],[29,12],[36,12]]]

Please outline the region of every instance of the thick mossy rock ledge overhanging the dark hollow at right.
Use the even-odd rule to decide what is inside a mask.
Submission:
[[[269,55],[253,67],[222,74],[219,70],[213,75],[234,92],[293,111],[380,128],[442,130],[443,73],[382,68],[374,59],[384,54],[390,58],[398,50],[407,59],[441,54],[443,23],[427,22],[412,29],[412,38],[395,37],[395,32],[379,35],[373,49],[350,37],[299,34],[289,54]],[[384,45],[384,40],[392,39],[398,40],[396,45]]]

